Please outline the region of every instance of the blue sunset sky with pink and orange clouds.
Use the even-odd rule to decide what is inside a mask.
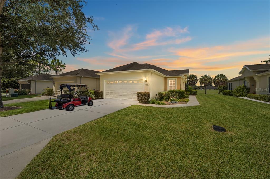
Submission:
[[[87,31],[88,52],[59,56],[63,73],[137,62],[230,79],[270,55],[270,1],[87,1],[83,12],[100,30]]]

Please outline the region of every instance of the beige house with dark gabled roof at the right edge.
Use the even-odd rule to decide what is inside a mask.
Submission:
[[[228,90],[244,84],[250,88],[249,93],[270,95],[270,64],[244,65],[239,74],[241,76],[227,81]]]

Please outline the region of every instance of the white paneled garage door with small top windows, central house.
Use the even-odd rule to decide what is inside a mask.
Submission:
[[[137,99],[137,92],[143,91],[143,80],[105,81],[105,98]]]

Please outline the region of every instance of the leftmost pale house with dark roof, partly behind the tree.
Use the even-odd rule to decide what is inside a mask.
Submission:
[[[22,89],[31,90],[32,94],[41,94],[45,88],[53,87],[53,80],[50,78],[52,74],[39,74],[22,78],[18,80],[20,91]]]

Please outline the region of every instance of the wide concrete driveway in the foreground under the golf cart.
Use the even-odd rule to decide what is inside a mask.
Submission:
[[[93,106],[77,106],[71,112],[46,109],[1,117],[0,178],[15,178],[54,135],[137,103],[99,99]]]

